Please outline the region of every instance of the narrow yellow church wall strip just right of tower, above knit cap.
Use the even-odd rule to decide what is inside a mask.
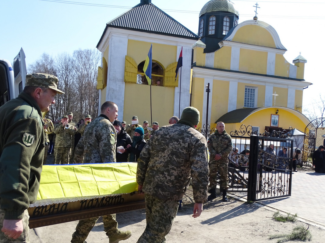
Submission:
[[[194,77],[192,80],[192,90],[194,91],[191,99],[191,106],[200,111],[200,122],[198,127],[202,127],[202,107],[203,107],[203,94],[205,92],[204,78]],[[206,101],[205,101],[206,102]]]

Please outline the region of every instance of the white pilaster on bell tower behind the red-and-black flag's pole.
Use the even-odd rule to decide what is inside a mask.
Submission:
[[[182,49],[181,46],[177,46],[176,62],[178,61],[178,57],[179,57],[179,53],[181,52],[181,49]],[[191,78],[191,59],[192,59],[192,48],[183,46],[182,82],[180,79],[181,73],[179,69],[178,87],[175,87],[175,94],[174,94],[174,116],[177,116],[178,118],[182,114],[184,108],[189,106],[190,94],[188,90],[190,88],[189,86],[190,86],[190,78]],[[181,92],[180,103],[179,103],[179,90]]]

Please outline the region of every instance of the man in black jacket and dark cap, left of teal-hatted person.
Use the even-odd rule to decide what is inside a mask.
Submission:
[[[125,132],[125,129],[119,120],[115,120],[113,126],[117,132],[116,162],[127,162],[128,150],[126,149],[126,146],[128,144],[132,145],[132,139],[130,135]],[[118,149],[120,146],[123,146],[123,148]]]

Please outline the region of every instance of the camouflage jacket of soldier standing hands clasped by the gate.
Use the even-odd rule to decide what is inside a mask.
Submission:
[[[218,131],[211,134],[208,141],[208,148],[210,152],[210,161],[214,160],[216,154],[221,155],[222,160],[227,160],[228,154],[232,151],[232,140],[226,130],[222,134]]]

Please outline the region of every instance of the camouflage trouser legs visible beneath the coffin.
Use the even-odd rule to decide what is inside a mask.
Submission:
[[[116,234],[118,232],[116,214],[104,215],[104,231],[108,237]],[[72,234],[72,243],[84,243],[85,239],[88,237],[91,229],[95,226],[99,217],[87,218],[79,220],[76,226],[76,231]]]

